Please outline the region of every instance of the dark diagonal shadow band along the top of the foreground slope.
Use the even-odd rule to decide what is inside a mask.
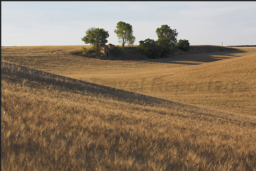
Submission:
[[[87,81],[78,80],[75,78],[56,75],[53,73],[44,72],[22,65],[3,62],[1,61],[1,78],[7,82],[13,82],[20,86],[23,86],[24,81],[26,86],[34,87],[37,89],[45,89],[48,87],[61,88],[62,90],[70,91],[73,93],[82,93],[91,95],[93,97],[104,96],[104,98],[112,98],[117,101],[125,101],[127,103],[139,104],[139,105],[152,105],[166,104],[169,105],[183,105],[175,101],[168,101],[161,98],[156,98],[148,95],[142,95],[139,93],[120,90],[112,87],[107,87],[100,84],[94,84]]]

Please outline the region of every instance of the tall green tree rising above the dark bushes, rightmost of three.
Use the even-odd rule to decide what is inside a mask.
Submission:
[[[177,45],[178,32],[176,29],[170,28],[168,25],[161,25],[155,33],[158,36],[159,42],[168,42],[170,45]]]

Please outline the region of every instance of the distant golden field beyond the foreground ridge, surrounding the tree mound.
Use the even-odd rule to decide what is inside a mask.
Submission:
[[[85,58],[79,55],[82,47],[2,47],[2,60],[167,100],[256,115],[256,47],[197,45],[190,54],[130,61]]]

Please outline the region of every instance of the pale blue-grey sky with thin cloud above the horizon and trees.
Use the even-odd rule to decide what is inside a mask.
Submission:
[[[92,27],[121,45],[119,21],[132,25],[134,45],[157,40],[161,25],[190,45],[256,45],[255,1],[1,1],[1,46],[86,45]]]

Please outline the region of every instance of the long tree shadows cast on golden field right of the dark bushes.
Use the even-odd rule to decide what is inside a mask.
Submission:
[[[223,59],[230,59],[240,56],[238,53],[245,53],[245,50],[231,50],[231,51],[214,51],[214,52],[200,52],[200,53],[187,53],[182,55],[174,55],[168,58],[160,59],[140,59],[135,61],[156,62],[156,63],[169,63],[169,64],[186,64],[197,65],[207,62],[214,62]]]

